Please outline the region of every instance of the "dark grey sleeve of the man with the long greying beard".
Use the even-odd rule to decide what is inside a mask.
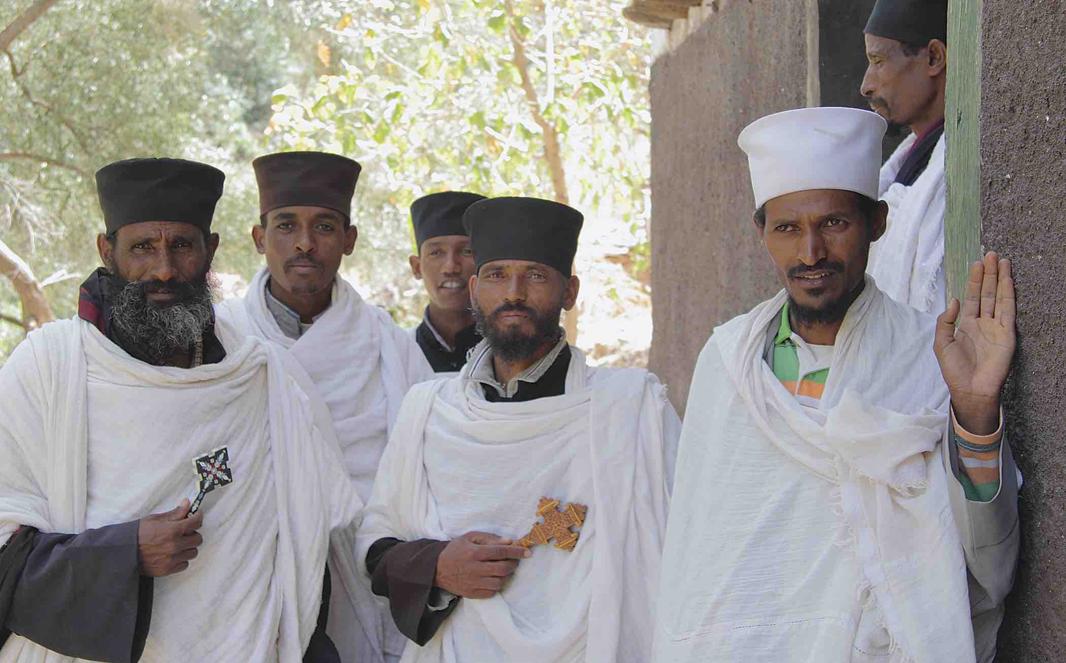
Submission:
[[[81,534],[34,531],[21,569],[6,572],[17,579],[3,628],[69,657],[140,660],[154,582],[138,572],[139,528],[132,520]]]

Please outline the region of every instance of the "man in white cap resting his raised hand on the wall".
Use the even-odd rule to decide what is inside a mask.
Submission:
[[[813,108],[740,135],[785,288],[716,327],[696,365],[655,661],[996,654],[1019,543],[1000,410],[1011,263],[973,263],[938,319],[863,275],[885,126]]]

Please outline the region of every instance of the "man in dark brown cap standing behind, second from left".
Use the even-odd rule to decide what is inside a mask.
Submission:
[[[219,318],[286,349],[307,372],[366,501],[404,394],[433,370],[388,312],[338,274],[359,235],[352,223],[359,164],[304,151],[266,155],[252,166],[260,214],[252,238],[266,264],[243,297],[219,305]],[[397,661],[404,637],[357,580],[354,537],[354,529],[334,535],[320,622],[344,663]]]

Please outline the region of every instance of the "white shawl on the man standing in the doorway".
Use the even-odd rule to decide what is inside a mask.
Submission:
[[[888,203],[888,225],[870,247],[867,272],[897,302],[939,313],[947,304],[936,301],[947,210],[944,136],[937,141],[928,165],[915,183],[905,187],[894,180],[915,141],[917,136],[908,136],[881,167],[879,193]]]

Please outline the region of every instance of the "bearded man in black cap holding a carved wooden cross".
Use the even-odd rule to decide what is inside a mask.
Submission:
[[[680,423],[655,375],[566,342],[582,222],[537,198],[464,215],[484,340],[407,394],[356,540],[405,662],[648,660]]]

